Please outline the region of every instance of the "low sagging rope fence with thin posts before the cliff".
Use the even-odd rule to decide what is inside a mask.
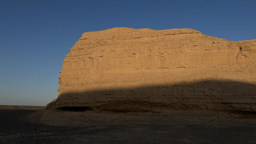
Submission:
[[[164,117],[160,118],[159,120],[156,120],[155,122],[151,122],[151,123],[148,123],[148,124],[138,124],[138,123],[132,122],[132,121],[130,121],[130,120],[127,120],[126,118],[124,118],[124,117],[122,117],[122,116],[118,116],[118,118],[116,118],[116,119],[114,119],[114,120],[111,120],[110,122],[97,122],[97,121],[92,120],[92,119],[89,118],[89,119],[86,120],[84,123],[80,124],[79,126],[77,126],[77,127],[75,127],[75,128],[72,128],[72,129],[70,129],[70,130],[61,131],[61,132],[50,132],[50,131],[46,131],[46,130],[41,130],[41,129],[36,128],[36,125],[35,125],[34,129],[32,129],[32,130],[31,130],[30,128],[24,128],[24,129],[30,129],[31,131],[28,132],[28,133],[26,133],[26,134],[24,134],[23,136],[21,136],[21,137],[19,137],[19,138],[16,138],[16,139],[14,139],[14,140],[12,140],[12,141],[6,143],[6,144],[10,144],[10,143],[15,142],[15,141],[17,141],[17,140],[20,140],[21,138],[23,138],[24,136],[30,134],[30,133],[33,132],[33,131],[34,131],[34,138],[35,138],[36,130],[41,131],[41,132],[46,132],[46,133],[64,133],[64,132],[70,132],[70,131],[72,131],[72,130],[76,130],[77,128],[80,128],[81,126],[83,126],[83,125],[84,125],[86,122],[88,122],[88,121],[92,121],[92,122],[97,123],[97,124],[109,124],[109,123],[112,123],[112,122],[114,122],[114,121],[116,121],[116,120],[118,120],[118,119],[120,119],[120,118],[122,118],[123,120],[125,120],[126,122],[129,122],[129,123],[131,123],[131,124],[134,124],[134,125],[141,125],[141,126],[146,126],[146,125],[150,125],[150,124],[155,124],[156,122],[159,122],[160,120],[162,120],[162,119],[164,119],[164,118],[167,118],[167,119],[169,119],[169,120],[172,121],[172,122],[175,122],[175,123],[177,123],[177,124],[181,124],[181,125],[184,125],[184,126],[202,126],[202,125],[208,124],[208,123],[210,123],[210,122],[213,122],[213,121],[216,120],[216,119],[218,119],[218,120],[221,119],[221,120],[224,120],[224,121],[226,121],[226,122],[232,122],[232,123],[235,123],[235,124],[256,125],[256,124],[246,124],[246,123],[241,123],[241,122],[234,122],[234,121],[231,121],[231,120],[226,120],[226,119],[224,119],[224,118],[220,118],[220,116],[218,116],[218,117],[216,117],[216,118],[214,118],[214,119],[212,119],[212,120],[210,120],[210,121],[208,121],[208,122],[204,122],[204,123],[202,123],[202,124],[195,124],[195,125],[184,124],[184,123],[181,123],[181,122],[177,122],[177,121],[175,121],[175,120],[172,120],[171,118],[169,118],[169,117],[166,116],[166,115],[165,115]],[[166,122],[166,121],[165,121],[165,122]],[[218,125],[220,125],[220,124],[218,124]],[[34,138],[33,138],[33,144],[34,144]]]

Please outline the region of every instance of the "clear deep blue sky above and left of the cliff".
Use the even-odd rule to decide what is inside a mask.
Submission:
[[[57,98],[62,61],[84,32],[192,28],[250,40],[255,6],[255,0],[0,0],[0,104],[45,106]]]

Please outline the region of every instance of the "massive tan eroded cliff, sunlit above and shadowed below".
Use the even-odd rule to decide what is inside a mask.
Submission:
[[[86,32],[59,78],[58,98],[47,108],[256,112],[256,40],[192,29]]]

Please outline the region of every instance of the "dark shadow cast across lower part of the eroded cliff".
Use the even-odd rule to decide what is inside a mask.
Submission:
[[[256,85],[236,81],[201,80],[62,93],[47,108],[72,111],[167,112],[217,110],[256,112]]]

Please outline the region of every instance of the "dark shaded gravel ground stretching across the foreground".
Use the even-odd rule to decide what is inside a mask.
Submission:
[[[34,124],[26,117],[36,110],[0,110],[0,144],[6,144],[30,132]],[[36,124],[40,130],[61,132],[68,126]],[[33,131],[12,144],[32,144]],[[183,126],[163,119],[140,126],[128,122],[95,124],[88,122],[70,132],[36,131],[35,144],[256,144],[256,125],[233,124],[215,120],[202,126]]]

